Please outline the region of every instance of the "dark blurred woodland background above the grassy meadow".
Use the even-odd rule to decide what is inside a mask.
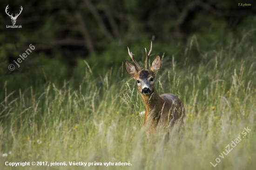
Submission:
[[[15,24],[22,28],[7,28],[12,25],[7,5],[13,16],[22,6]],[[178,68],[185,62],[196,65],[201,53],[225,48],[254,30],[255,21],[253,0],[1,1],[0,89],[80,81],[87,65],[95,77],[116,72],[118,81],[128,76],[122,67],[130,61],[127,46],[142,64],[150,41],[151,62],[164,53],[165,61],[174,56]],[[256,38],[249,40],[253,44]],[[14,60],[30,44],[35,49],[18,67]],[[8,69],[10,64],[15,70]]]

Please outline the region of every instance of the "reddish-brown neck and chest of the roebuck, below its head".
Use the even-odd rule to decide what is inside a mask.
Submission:
[[[151,121],[148,120],[149,114],[152,118],[159,118],[158,114],[161,113],[164,100],[158,95],[156,90],[151,95],[142,95],[142,99],[146,105],[144,124],[147,124],[148,121]]]

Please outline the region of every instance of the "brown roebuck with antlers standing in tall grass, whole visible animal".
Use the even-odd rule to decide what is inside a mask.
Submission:
[[[146,112],[144,116],[144,125],[149,125],[150,131],[161,130],[172,126],[176,120],[183,118],[185,111],[182,101],[174,94],[161,94],[158,95],[155,89],[155,74],[160,70],[161,59],[159,56],[155,57],[151,67],[148,69],[148,58],[152,51],[152,41],[150,51],[146,52],[145,69],[143,69],[136,60],[134,54],[128,53],[134,64],[135,68],[129,61],[125,61],[125,68],[128,74],[135,78],[138,85],[138,90],[146,105]]]

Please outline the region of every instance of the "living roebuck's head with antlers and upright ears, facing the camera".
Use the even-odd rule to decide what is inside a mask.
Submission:
[[[128,53],[131,59],[133,60],[134,64],[138,69],[135,68],[134,65],[132,65],[129,61],[125,61],[125,68],[128,74],[130,74],[132,77],[135,78],[138,85],[138,90],[143,95],[151,95],[152,92],[155,90],[155,74],[160,70],[161,67],[161,59],[159,56],[155,57],[151,67],[148,69],[148,58],[150,56],[150,53],[152,51],[152,42],[151,42],[151,48],[150,51],[147,53],[147,50],[145,48],[146,52],[146,60],[145,60],[145,69],[143,69],[140,65],[138,65],[137,61],[134,59],[134,54],[130,52],[128,48]]]

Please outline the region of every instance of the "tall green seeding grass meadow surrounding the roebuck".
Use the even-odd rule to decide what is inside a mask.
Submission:
[[[145,105],[124,65],[97,75],[97,68],[83,61],[79,81],[70,78],[60,85],[47,81],[36,89],[29,85],[30,80],[24,81],[25,90],[9,92],[14,80],[6,81],[0,93],[0,169],[253,169],[256,51],[250,36],[245,34],[222,48],[200,51],[199,63],[190,62],[195,58],[190,53],[195,46],[193,39],[187,51],[184,49],[183,62],[176,62],[179,56],[162,56],[157,91],[178,96],[186,117],[185,123],[176,124],[168,133],[155,133],[149,138],[142,125]],[[247,127],[251,131],[244,136]],[[233,148],[232,141],[239,135],[241,140]],[[227,150],[230,153],[223,154]],[[5,165],[25,161],[67,165]],[[70,166],[69,162],[92,165]],[[104,166],[109,162],[131,165]]]

